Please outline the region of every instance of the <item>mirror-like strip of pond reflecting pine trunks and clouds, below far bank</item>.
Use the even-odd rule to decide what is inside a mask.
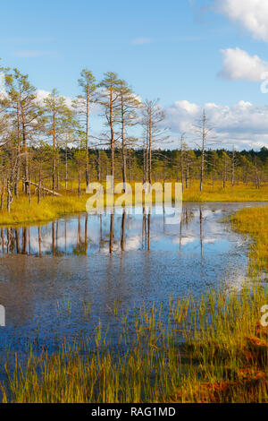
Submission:
[[[82,256],[130,251],[205,253],[227,250],[226,230],[217,220],[239,205],[184,204],[180,223],[167,225],[167,211],[144,208],[138,214],[88,215],[54,220],[37,227],[0,228],[0,250],[6,254]]]

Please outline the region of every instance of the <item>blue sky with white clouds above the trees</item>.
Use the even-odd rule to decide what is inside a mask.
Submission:
[[[181,133],[195,144],[204,108],[214,147],[268,147],[267,44],[267,0],[1,4],[3,65],[67,98],[80,93],[84,67],[97,80],[116,72],[142,99],[160,99],[171,147]],[[99,125],[93,116],[93,132]]]

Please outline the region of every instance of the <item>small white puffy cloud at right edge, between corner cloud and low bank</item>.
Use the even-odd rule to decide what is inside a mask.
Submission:
[[[249,56],[238,47],[222,49],[222,71],[219,76],[224,79],[260,82],[267,71],[268,62],[259,56]]]

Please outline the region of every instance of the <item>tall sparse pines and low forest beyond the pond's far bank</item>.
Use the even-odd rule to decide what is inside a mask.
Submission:
[[[184,188],[205,178],[212,185],[267,180],[267,150],[210,150],[211,128],[205,110],[197,122],[199,148],[191,150],[182,135],[179,149],[164,150],[169,140],[158,99],[141,101],[116,73],[100,82],[84,69],[80,95],[68,102],[57,90],[39,98],[29,76],[1,67],[0,93],[0,208],[10,211],[13,197],[31,193],[57,194],[77,189],[106,175],[117,180],[149,183],[177,179]],[[103,130],[93,136],[92,114],[97,107]],[[99,111],[100,110],[100,111]],[[137,133],[139,133],[137,135]]]

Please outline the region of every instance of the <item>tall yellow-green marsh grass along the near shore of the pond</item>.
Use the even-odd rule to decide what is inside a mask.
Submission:
[[[264,303],[257,287],[171,300],[166,322],[154,306],[130,323],[115,308],[117,351],[99,325],[53,355],[30,351],[26,364],[15,356],[2,402],[268,402],[267,330],[256,323]]]

